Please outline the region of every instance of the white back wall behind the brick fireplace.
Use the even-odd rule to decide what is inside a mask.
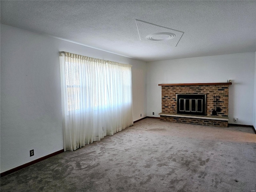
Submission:
[[[229,123],[253,124],[255,52],[147,63],[147,116],[159,117],[162,83],[227,82]]]

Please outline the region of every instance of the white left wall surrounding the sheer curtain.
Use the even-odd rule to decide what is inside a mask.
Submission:
[[[1,24],[1,172],[63,149],[59,51],[131,64],[133,120],[146,116],[146,62]]]

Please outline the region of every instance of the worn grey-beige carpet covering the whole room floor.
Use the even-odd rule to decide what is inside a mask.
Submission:
[[[144,119],[1,178],[1,192],[255,192],[256,134]]]

